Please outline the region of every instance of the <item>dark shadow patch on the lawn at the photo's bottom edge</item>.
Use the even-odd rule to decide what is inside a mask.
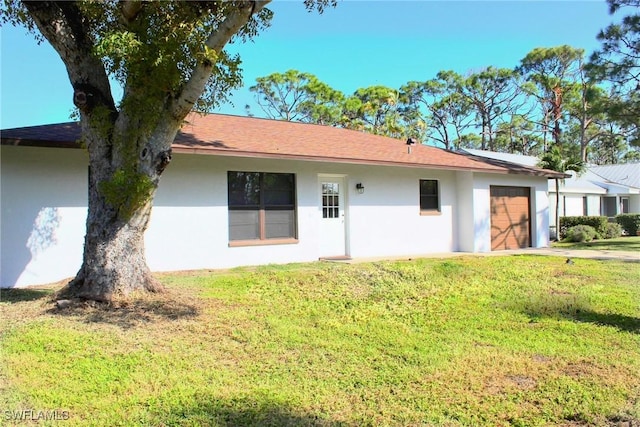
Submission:
[[[230,401],[201,398],[193,402],[191,406],[175,408],[170,414],[159,415],[159,417],[164,418],[158,420],[163,425],[348,426],[348,424],[331,420],[326,415],[303,413],[286,404],[244,398]]]

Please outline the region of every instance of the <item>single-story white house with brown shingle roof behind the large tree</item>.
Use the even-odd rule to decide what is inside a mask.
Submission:
[[[79,269],[79,138],[77,123],[2,131],[1,286]],[[147,262],[172,271],[546,247],[547,180],[563,176],[353,130],[192,114],[154,200]]]

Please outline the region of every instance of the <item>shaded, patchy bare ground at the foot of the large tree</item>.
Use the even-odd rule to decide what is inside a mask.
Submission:
[[[64,305],[56,303],[48,313],[74,317],[86,323],[105,323],[122,329],[131,329],[152,322],[195,318],[200,310],[196,304],[186,301],[184,296],[164,292],[118,303],[74,299]]]

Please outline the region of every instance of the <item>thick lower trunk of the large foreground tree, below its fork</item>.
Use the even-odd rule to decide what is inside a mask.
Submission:
[[[84,125],[83,134],[90,141],[87,233],[82,266],[62,294],[111,301],[134,291],[161,291],[147,266],[144,233],[160,175],[171,160],[169,147],[178,125],[167,118],[159,120],[150,138],[134,140],[122,138],[135,135],[135,130],[116,131],[105,138],[88,123]],[[115,127],[118,125],[136,126],[122,116]],[[117,180],[118,174],[125,179]],[[118,183],[115,192],[108,187],[113,182]],[[144,190],[136,193],[140,183],[146,183]]]

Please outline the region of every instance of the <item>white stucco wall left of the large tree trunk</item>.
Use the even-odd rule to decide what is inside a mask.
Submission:
[[[1,286],[49,283],[78,271],[87,162],[82,150],[2,146]]]

